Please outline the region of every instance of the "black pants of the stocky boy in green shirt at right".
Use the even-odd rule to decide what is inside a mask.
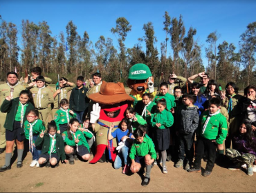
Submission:
[[[196,159],[194,160],[194,168],[201,168],[201,159],[203,158],[203,153],[206,149],[208,152],[208,161],[205,170],[212,172],[216,159],[216,148],[217,145],[216,143],[212,142],[212,140],[199,137],[196,140]]]

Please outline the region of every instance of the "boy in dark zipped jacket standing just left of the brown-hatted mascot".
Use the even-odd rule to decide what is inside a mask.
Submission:
[[[88,108],[89,104],[89,99],[86,97],[87,89],[83,83],[84,77],[77,77],[77,86],[73,88],[69,99],[69,108],[77,114],[77,119],[80,123],[82,123],[84,111]]]

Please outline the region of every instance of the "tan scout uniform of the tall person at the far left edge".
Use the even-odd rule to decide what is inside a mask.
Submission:
[[[4,83],[0,85],[0,106],[6,99],[6,96],[12,96],[12,99],[19,96],[19,93],[25,90],[25,87],[19,83],[10,85]],[[0,112],[0,148],[6,148],[6,128],[3,127],[6,121],[6,113]]]

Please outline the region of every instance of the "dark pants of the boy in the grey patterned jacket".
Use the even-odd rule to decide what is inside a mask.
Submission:
[[[193,142],[194,142],[194,133],[179,134],[179,159],[182,159],[182,160],[186,159],[188,163],[192,161]],[[186,156],[184,156],[184,154]]]

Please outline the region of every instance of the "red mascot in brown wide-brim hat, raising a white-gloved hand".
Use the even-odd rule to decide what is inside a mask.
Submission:
[[[120,121],[125,118],[125,110],[133,103],[134,99],[126,94],[123,83],[107,83],[105,81],[102,81],[100,92],[90,94],[89,98],[96,103],[93,105],[90,122],[93,123],[97,145],[95,156],[89,163],[105,162],[105,150],[108,150],[109,160],[115,161],[117,144],[116,140],[109,141],[107,139],[109,127],[113,124],[114,128],[118,128]],[[112,112],[111,117],[108,112]]]

